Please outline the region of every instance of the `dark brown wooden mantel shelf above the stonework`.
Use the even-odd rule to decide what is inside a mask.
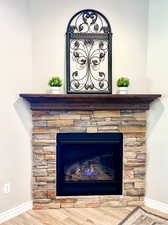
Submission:
[[[20,94],[32,110],[148,110],[160,94]]]

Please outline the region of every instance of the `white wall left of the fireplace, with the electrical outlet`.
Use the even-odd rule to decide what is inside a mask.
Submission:
[[[18,99],[32,87],[31,44],[28,1],[0,0],[0,213],[31,200],[31,114]]]

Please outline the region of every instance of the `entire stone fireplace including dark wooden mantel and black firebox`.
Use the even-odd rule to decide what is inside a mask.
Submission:
[[[92,95],[92,97],[69,95],[67,97],[67,95],[22,94],[21,96],[31,103],[32,109],[32,196],[34,209],[121,207],[143,204],[146,166],[146,110],[149,109],[149,103],[160,95],[104,95],[104,98],[98,95]],[[80,146],[80,151],[77,150],[77,147],[72,148],[70,141],[76,140],[73,134],[76,134],[77,138],[85,137],[85,140],[89,140],[89,134],[91,134],[90,140],[97,136],[97,140],[99,140],[97,151],[95,151],[96,145],[92,145],[93,151],[90,153],[91,156],[88,156],[89,154],[84,153],[85,149],[88,149],[86,143],[85,147]],[[106,136],[106,134],[108,135]],[[101,137],[108,137],[108,140],[112,140],[113,134],[114,137],[122,137],[122,153],[120,154],[122,160],[115,158],[116,165],[122,168],[120,173],[122,182],[116,187],[118,192],[113,191],[111,182],[115,180],[115,176],[117,177],[117,173],[114,172],[117,166],[110,164],[110,160],[112,164],[115,164],[115,154],[110,152],[109,149],[112,147],[109,146],[106,146],[104,155],[101,151]],[[66,144],[64,143],[64,150],[60,147],[61,138],[63,141],[67,141]],[[116,150],[119,151],[120,147]],[[71,152],[71,157],[66,156],[64,161],[57,159],[60,154],[67,153],[72,149],[76,150],[76,153]],[[80,153],[81,160],[75,161],[77,152]],[[61,167],[61,162],[68,162],[68,159],[71,161],[68,166]],[[101,167],[103,165],[103,168],[106,169],[100,170],[100,166],[97,166],[100,165],[100,161],[107,162],[108,166],[101,164]],[[93,179],[97,172],[99,173],[98,180],[103,181],[104,179],[104,182],[110,180],[111,186],[108,187],[111,189],[104,189],[101,193],[101,191],[96,190],[96,187],[94,188],[94,185],[91,185],[90,191],[86,191],[86,187],[88,187],[86,185],[81,195],[77,189],[76,193],[74,190],[73,192],[69,191],[71,187],[70,189],[66,189],[66,187],[65,189],[68,191],[64,190],[63,193],[60,191],[60,183],[57,183],[62,182],[61,178],[57,177],[61,175],[61,168],[64,173],[66,171],[64,183],[72,184],[72,181],[75,180],[80,180],[82,183],[82,179],[87,183],[88,179]],[[105,174],[103,174],[104,172]],[[81,178],[82,174],[83,178]],[[86,178],[86,175],[89,174],[90,177]],[[107,174],[109,174],[110,179],[108,179]]]

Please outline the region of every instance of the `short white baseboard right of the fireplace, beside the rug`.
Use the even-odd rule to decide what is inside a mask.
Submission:
[[[145,198],[145,205],[149,208],[159,210],[163,213],[168,213],[168,204],[156,201],[150,198]]]

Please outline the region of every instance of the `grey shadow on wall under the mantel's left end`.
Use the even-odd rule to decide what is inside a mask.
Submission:
[[[30,110],[30,105],[22,98],[18,98],[13,104],[16,110],[16,113],[24,126],[27,134],[31,137],[32,135],[32,114]]]

